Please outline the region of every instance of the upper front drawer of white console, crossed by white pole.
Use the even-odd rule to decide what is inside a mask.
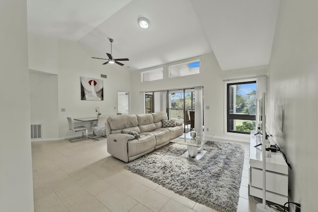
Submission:
[[[251,167],[251,186],[263,188],[263,171]],[[288,175],[266,171],[266,191],[288,196]]]

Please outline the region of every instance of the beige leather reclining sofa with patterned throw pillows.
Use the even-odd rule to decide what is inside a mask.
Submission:
[[[165,112],[109,117],[105,123],[107,151],[128,162],[168,144],[182,135],[183,124],[167,118]]]

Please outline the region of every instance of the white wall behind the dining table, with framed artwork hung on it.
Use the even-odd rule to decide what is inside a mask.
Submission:
[[[116,115],[117,91],[130,90],[130,71],[117,64],[102,65],[102,60],[91,59],[77,43],[67,40],[58,41],[58,96],[59,96],[59,137],[74,135],[68,128],[67,117],[96,116],[95,107],[99,106],[102,115]],[[100,74],[107,75],[101,78]],[[103,79],[104,100],[80,100],[80,76]],[[66,108],[66,112],[61,112]],[[79,123],[89,127],[89,123]]]

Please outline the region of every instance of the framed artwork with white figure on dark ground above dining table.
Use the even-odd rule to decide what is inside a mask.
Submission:
[[[104,100],[104,82],[102,79],[80,77],[80,99],[89,101]]]

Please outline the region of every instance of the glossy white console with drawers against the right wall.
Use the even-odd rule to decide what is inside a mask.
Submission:
[[[255,133],[250,132],[249,195],[263,198],[263,145],[254,147],[261,143],[261,135],[254,136]],[[271,152],[271,157],[266,157],[266,200],[279,205],[288,202],[288,166],[280,152]]]

